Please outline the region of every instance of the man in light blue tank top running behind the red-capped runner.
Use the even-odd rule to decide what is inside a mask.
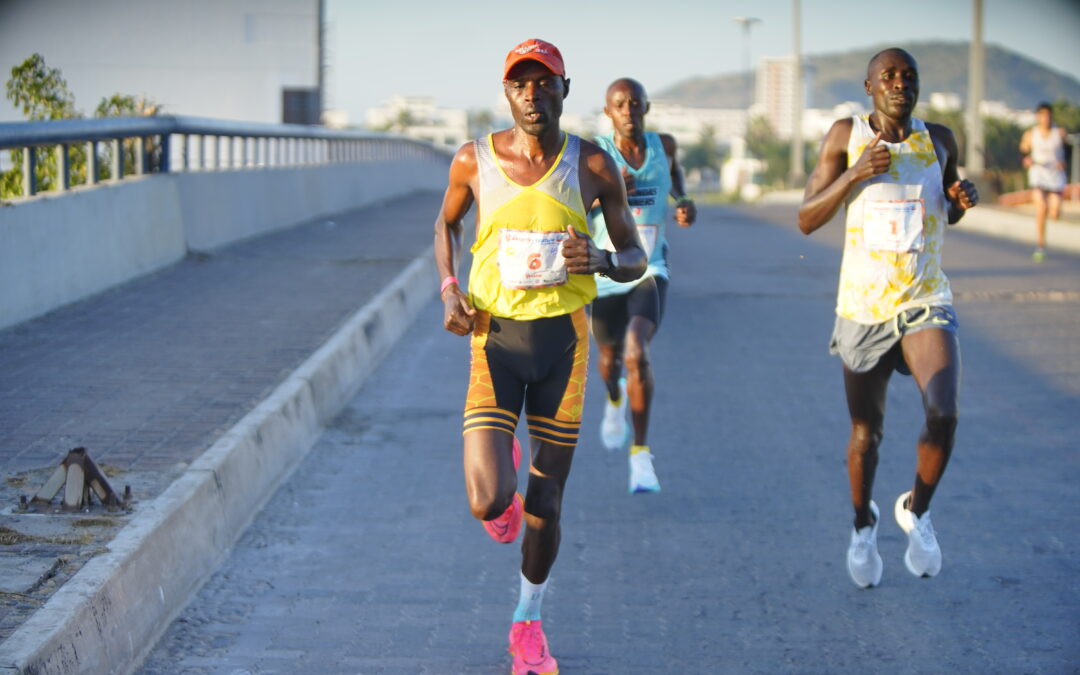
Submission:
[[[600,438],[612,450],[630,441],[629,404],[633,421],[631,492],[660,490],[647,441],[653,391],[649,342],[663,319],[667,293],[667,197],[676,200],[675,222],[680,227],[690,227],[698,216],[683,185],[675,139],[645,131],[648,111],[649,97],[639,82],[630,78],[616,80],[608,86],[604,105],[613,131],[596,138],[622,172],[631,212],[649,257],[648,269],[635,281],[619,283],[597,276],[597,297],[591,312],[593,337],[600,352],[599,374],[607,387]],[[596,245],[613,251],[600,210],[594,208],[590,220]],[[626,378],[622,377],[624,366]]]

